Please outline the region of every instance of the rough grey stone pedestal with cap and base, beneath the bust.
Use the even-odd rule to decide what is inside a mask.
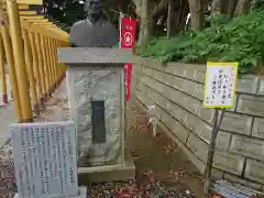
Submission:
[[[125,180],[135,176],[125,156],[124,69],[132,52],[118,48],[68,47],[58,61],[68,66],[68,97],[78,140],[78,166],[86,179]],[[114,174],[117,173],[117,174]]]

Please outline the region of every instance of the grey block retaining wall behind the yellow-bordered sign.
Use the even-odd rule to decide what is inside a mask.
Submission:
[[[202,108],[206,65],[162,65],[136,57],[132,92],[155,105],[160,127],[204,173],[213,109]],[[264,78],[239,79],[235,106],[224,113],[217,136],[213,175],[264,189]]]

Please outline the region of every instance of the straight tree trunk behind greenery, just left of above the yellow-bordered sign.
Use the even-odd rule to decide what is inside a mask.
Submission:
[[[188,0],[190,10],[191,30],[200,31],[204,28],[204,12],[201,0]]]

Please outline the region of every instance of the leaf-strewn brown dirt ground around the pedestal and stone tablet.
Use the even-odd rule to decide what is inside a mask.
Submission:
[[[65,99],[55,96],[52,100],[54,108],[68,111],[65,108],[67,102]],[[59,113],[58,110],[56,113]],[[88,197],[202,198],[202,176],[177,144],[166,138],[160,129],[157,136],[152,136],[147,114],[134,98],[128,105],[127,119],[128,143],[135,162],[136,178],[130,182],[90,184]],[[15,191],[12,146],[8,142],[0,148],[0,198],[12,197]]]

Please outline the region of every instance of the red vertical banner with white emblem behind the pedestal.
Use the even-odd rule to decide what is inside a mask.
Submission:
[[[130,18],[121,19],[121,48],[134,48],[135,45],[135,34],[136,34],[136,21]],[[131,88],[131,77],[132,77],[132,64],[127,64],[124,66],[125,75],[125,100],[130,99],[130,88]]]

